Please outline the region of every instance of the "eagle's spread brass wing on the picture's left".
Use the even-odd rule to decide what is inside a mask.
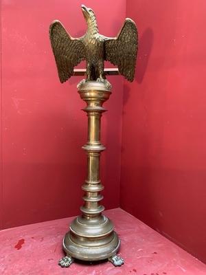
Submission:
[[[73,75],[73,67],[85,59],[84,44],[81,39],[73,39],[60,21],[54,21],[49,28],[58,76],[63,83]]]

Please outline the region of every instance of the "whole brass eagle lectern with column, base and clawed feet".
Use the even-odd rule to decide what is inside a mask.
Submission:
[[[117,256],[120,241],[113,223],[102,214],[100,205],[104,189],[100,181],[100,153],[105,147],[100,143],[100,120],[106,111],[103,103],[111,95],[111,84],[106,74],[122,74],[133,81],[137,58],[137,28],[131,19],[126,19],[117,37],[99,34],[95,14],[91,8],[82,5],[87,32],[84,36],[72,38],[60,21],[54,21],[49,28],[52,50],[56,60],[58,76],[63,83],[73,75],[84,74],[73,69],[86,60],[87,78],[78,84],[78,92],[87,103],[84,111],[88,116],[88,140],[82,148],[87,153],[87,179],[84,181],[84,205],[82,215],[71,222],[69,232],[63,239],[67,256],[59,261],[61,267],[69,267],[74,259],[100,261],[108,259],[120,266],[124,260]],[[104,69],[104,61],[117,65],[118,69]]]

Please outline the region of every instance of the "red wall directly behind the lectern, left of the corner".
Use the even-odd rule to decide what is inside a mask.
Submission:
[[[81,78],[60,84],[49,43],[49,25],[59,19],[72,36],[86,30],[79,0],[2,1],[1,228],[78,214],[86,176],[85,105]],[[95,10],[100,32],[114,36],[126,1],[84,1]],[[109,6],[109,8],[108,8]],[[106,20],[105,20],[106,14]],[[104,206],[119,206],[122,78],[110,78],[113,94],[102,119]]]

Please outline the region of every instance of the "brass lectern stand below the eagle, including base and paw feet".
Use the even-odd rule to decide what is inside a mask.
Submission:
[[[79,94],[87,103],[83,110],[88,117],[88,138],[82,146],[87,152],[87,179],[82,185],[82,216],[72,221],[63,240],[67,256],[60,260],[60,265],[69,266],[73,259],[114,261],[114,257],[117,258],[115,263],[120,265],[123,260],[116,256],[120,241],[113,230],[113,223],[102,214],[104,206],[100,204],[103,198],[100,191],[104,189],[100,181],[100,153],[105,150],[100,142],[100,122],[102,113],[106,111],[102,105],[111,91],[102,82],[87,81],[80,85]]]

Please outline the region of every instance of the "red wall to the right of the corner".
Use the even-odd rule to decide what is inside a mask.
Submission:
[[[121,206],[206,262],[206,1],[130,0]]]

